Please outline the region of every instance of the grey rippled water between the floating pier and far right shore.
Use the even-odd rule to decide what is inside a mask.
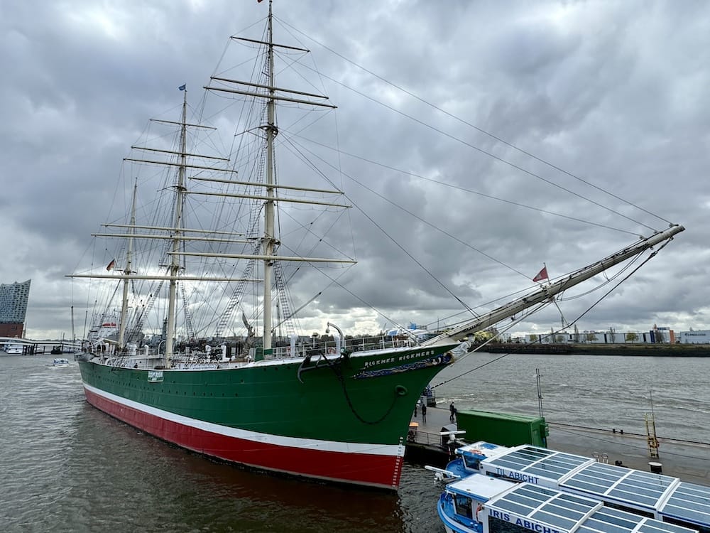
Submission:
[[[547,421],[645,434],[652,413],[659,437],[710,443],[710,357],[469,355],[435,378],[437,399],[535,415],[535,369]]]

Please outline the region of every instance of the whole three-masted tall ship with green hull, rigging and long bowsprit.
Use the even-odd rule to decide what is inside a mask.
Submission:
[[[297,63],[307,50],[276,43],[273,22],[270,1],[262,38],[230,39],[254,60],[250,80],[217,70],[196,109],[190,87],[176,87],[179,117],[154,119],[131,146],[124,213],[94,234],[116,252],[70,274],[105,295],[95,298],[94,328],[77,355],[84,392],[97,409],[204,456],[396,490],[415,405],[469,351],[467,336],[662,248],[683,227],[652,232],[435,335],[354,338],[335,321],[325,335],[299,329],[323,289],[309,299],[290,287],[307,286],[309,271],[345,286],[357,258],[346,251],[349,235],[332,230],[352,207],[339,178],[309,164],[295,171],[320,154],[280,125],[290,120],[297,131],[335,106],[312,85],[285,88],[300,78],[283,79],[276,58]],[[304,111],[321,114],[292,119]],[[225,127],[231,134],[220,137]]]

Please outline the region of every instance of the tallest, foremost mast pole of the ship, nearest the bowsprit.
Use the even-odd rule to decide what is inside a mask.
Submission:
[[[273,175],[273,140],[278,132],[275,125],[275,95],[273,74],[273,18],[271,15],[271,0],[268,3],[268,102],[266,102],[266,205],[264,206],[264,236],[263,236],[263,350],[264,355],[271,354],[271,282],[273,276],[274,239],[274,175]]]

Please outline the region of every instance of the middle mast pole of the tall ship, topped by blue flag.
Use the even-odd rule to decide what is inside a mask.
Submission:
[[[187,88],[182,98],[182,120],[180,121],[180,164],[178,165],[178,185],[175,188],[175,221],[173,222],[173,249],[170,254],[170,289],[168,291],[168,327],[165,332],[165,360],[163,366],[170,366],[175,343],[175,301],[178,294],[178,270],[180,269],[180,243],[182,242],[182,204],[185,197],[185,167],[187,165]]]

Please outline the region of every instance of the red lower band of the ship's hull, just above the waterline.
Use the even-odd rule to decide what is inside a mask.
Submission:
[[[84,392],[89,404],[126,424],[182,448],[231,463],[390,490],[396,490],[400,482],[401,456],[322,451],[234,438],[133,409],[86,388]]]

